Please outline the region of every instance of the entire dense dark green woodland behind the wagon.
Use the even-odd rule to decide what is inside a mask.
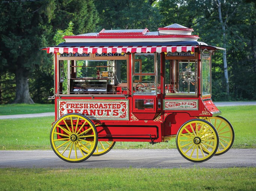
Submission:
[[[0,3],[0,104],[51,103],[52,57],[63,34],[101,29],[193,28],[213,56],[214,101],[256,100],[253,0],[9,0]],[[72,23],[73,24],[72,24]],[[226,66],[224,65],[223,58]]]

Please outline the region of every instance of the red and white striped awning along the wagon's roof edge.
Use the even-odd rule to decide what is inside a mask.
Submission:
[[[105,47],[46,47],[47,53],[161,53],[195,52],[196,46],[105,46]]]

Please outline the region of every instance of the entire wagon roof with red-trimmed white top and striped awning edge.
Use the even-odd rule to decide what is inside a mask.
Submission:
[[[65,36],[66,42],[46,47],[47,53],[161,53],[194,52],[199,46],[217,49],[198,42],[193,29],[179,24],[158,28],[150,32],[145,29],[106,30],[81,35]]]

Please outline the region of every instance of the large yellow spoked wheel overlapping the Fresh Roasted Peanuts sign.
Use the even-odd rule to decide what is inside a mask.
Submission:
[[[82,162],[95,151],[98,134],[93,122],[81,114],[66,114],[52,126],[51,146],[55,154],[67,162]],[[87,153],[81,149],[81,145]]]

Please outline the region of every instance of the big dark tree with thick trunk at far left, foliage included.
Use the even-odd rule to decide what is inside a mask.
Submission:
[[[29,93],[29,76],[45,60],[39,48],[51,31],[49,21],[54,1],[10,2],[0,4],[2,67],[15,73],[16,97],[13,103],[34,103]],[[48,24],[48,25],[45,25]]]

